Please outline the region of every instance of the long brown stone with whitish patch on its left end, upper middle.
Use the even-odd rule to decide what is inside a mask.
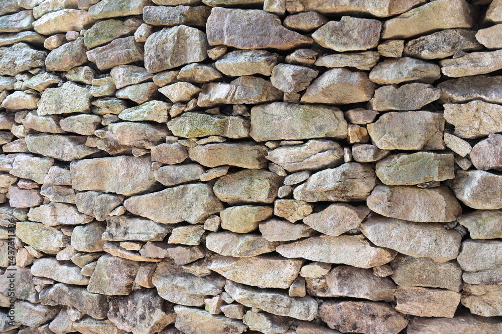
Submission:
[[[197,105],[260,104],[282,100],[283,92],[270,81],[255,76],[242,76],[230,83],[209,83],[202,86]]]

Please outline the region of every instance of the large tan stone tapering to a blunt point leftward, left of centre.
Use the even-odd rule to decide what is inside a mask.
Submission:
[[[163,224],[181,221],[194,224],[223,209],[211,186],[204,183],[181,185],[133,196],[124,201],[123,205],[133,214]]]

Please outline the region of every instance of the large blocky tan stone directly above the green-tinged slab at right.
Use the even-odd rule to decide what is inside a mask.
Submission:
[[[390,112],[367,129],[373,144],[383,150],[444,150],[444,123],[441,113]]]

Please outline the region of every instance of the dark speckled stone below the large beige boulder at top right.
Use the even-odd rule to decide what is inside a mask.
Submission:
[[[467,29],[441,30],[406,43],[404,53],[421,59],[443,59],[453,56],[459,50],[482,49],[475,35],[475,31]]]

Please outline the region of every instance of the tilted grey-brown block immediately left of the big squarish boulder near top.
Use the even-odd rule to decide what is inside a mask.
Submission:
[[[108,70],[118,65],[143,61],[143,48],[133,36],[117,38],[111,43],[86,52],[89,61],[99,70]]]

